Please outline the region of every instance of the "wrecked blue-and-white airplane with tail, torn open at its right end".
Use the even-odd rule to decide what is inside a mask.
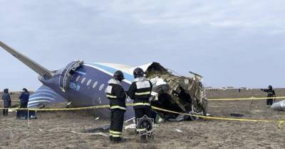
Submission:
[[[128,90],[134,79],[132,74],[136,67],[110,63],[86,63],[79,60],[70,62],[60,70],[49,71],[1,41],[0,45],[40,75],[38,79],[43,86],[30,96],[29,108],[42,108],[64,101],[71,103],[73,107],[108,105],[109,99],[105,97],[105,89],[113,73],[117,70],[124,73],[125,79],[122,86],[125,90]],[[138,67],[145,70],[147,79],[150,79],[153,84],[152,106],[187,114],[207,113],[207,97],[199,76],[173,75],[157,62]],[[132,104],[133,101],[126,99],[126,103]],[[109,118],[109,109],[94,109],[94,112],[100,117]],[[162,118],[177,119],[177,121],[189,118],[163,111],[156,111],[156,113]],[[128,106],[125,120],[133,117],[133,107]]]

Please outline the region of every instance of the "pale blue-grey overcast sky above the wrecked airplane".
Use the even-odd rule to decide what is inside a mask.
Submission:
[[[284,87],[285,1],[0,0],[0,40],[49,70],[160,62],[212,87]],[[0,89],[41,86],[0,49]]]

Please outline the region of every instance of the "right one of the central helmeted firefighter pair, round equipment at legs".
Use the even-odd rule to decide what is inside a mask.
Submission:
[[[135,123],[138,118],[143,116],[151,117],[150,96],[152,91],[152,83],[144,77],[145,72],[141,68],[136,68],[133,72],[134,82],[130,85],[128,96],[133,99],[133,109],[135,110]],[[146,126],[147,127],[147,126]],[[138,129],[137,132],[145,131]],[[146,136],[141,136],[142,140],[146,140]]]

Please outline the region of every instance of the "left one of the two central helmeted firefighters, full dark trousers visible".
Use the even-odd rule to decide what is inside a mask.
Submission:
[[[124,114],[126,111],[125,99],[127,94],[121,86],[124,75],[120,70],[115,72],[113,78],[109,80],[105,94],[110,99],[110,141],[114,143],[124,142],[122,138]]]

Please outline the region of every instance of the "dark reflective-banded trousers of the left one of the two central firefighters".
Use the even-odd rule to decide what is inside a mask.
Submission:
[[[113,137],[113,140],[117,140],[122,136],[124,114],[124,110],[111,109],[110,137]]]

